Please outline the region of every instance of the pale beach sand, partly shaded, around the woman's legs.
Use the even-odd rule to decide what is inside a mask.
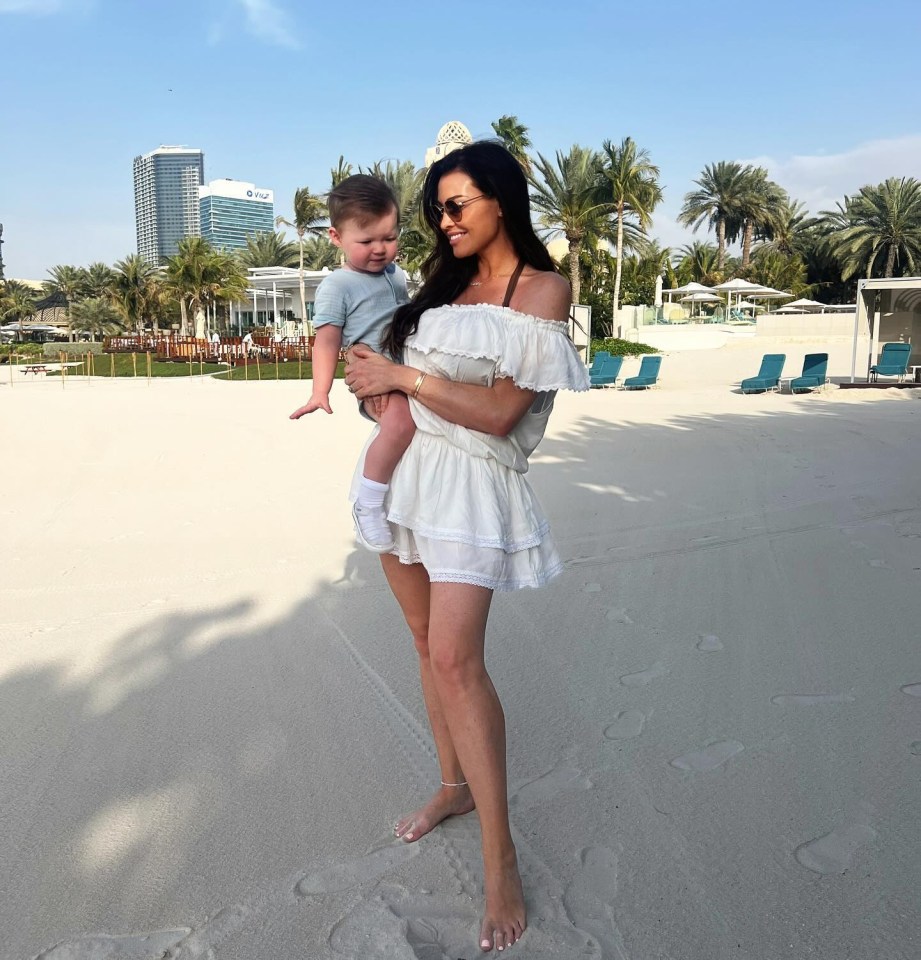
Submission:
[[[568,570],[489,640],[514,956],[921,953],[921,403],[735,392],[775,346],[558,401]],[[388,840],[437,772],[349,399],[0,374],[0,957],[477,956],[475,818]]]

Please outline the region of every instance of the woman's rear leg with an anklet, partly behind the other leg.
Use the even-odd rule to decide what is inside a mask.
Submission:
[[[422,680],[422,695],[425,708],[435,739],[435,750],[441,768],[441,779],[445,783],[460,784],[466,778],[461,770],[451,742],[451,735],[445,723],[444,711],[432,680],[432,668],[429,660],[428,626],[430,584],[428,574],[421,563],[405,564],[392,556],[381,557],[384,575],[390,589],[403,611],[403,616],[413,635],[416,652],[419,655],[419,675]],[[412,843],[437,827],[446,817],[469,813],[473,809],[473,797],[465,786],[439,787],[428,802],[403,817],[396,825],[396,835],[407,843]]]

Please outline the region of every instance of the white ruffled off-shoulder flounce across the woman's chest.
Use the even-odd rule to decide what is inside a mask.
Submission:
[[[458,324],[455,311],[470,314]],[[497,377],[526,390],[588,390],[585,364],[569,339],[567,325],[495,304],[451,303],[427,310],[406,342],[421,354],[433,352],[492,360]]]

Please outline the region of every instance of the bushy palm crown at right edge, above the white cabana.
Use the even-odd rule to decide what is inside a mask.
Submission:
[[[823,211],[830,226],[829,248],[841,261],[841,278],[902,276],[921,268],[921,182],[890,177],[861,187],[837,211]],[[884,265],[883,265],[884,264]]]

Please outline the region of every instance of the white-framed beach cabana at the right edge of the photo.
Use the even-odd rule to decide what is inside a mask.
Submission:
[[[909,366],[921,366],[921,277],[898,277],[857,282],[851,383],[857,377],[857,348],[869,336],[866,376],[876,363],[880,343],[910,343]]]

